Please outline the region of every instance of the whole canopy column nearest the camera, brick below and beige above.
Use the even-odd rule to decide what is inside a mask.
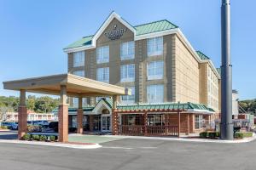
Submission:
[[[67,87],[61,85],[61,103],[59,105],[59,142],[68,141],[68,105]]]

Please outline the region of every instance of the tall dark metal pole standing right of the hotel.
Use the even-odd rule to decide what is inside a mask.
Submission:
[[[234,139],[232,122],[232,65],[230,61],[230,0],[221,6],[221,139]]]

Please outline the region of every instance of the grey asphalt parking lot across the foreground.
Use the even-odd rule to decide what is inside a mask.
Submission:
[[[0,137],[1,139],[1,137]],[[0,144],[0,169],[254,169],[256,141],[244,144],[119,139],[102,148]]]

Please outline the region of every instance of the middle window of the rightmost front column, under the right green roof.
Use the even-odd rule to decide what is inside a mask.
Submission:
[[[153,61],[148,63],[148,80],[163,78],[164,62]]]

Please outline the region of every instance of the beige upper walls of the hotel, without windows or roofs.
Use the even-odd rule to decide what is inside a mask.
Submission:
[[[97,68],[109,67],[109,83],[122,87],[135,87],[135,103],[148,103],[147,87],[152,84],[164,85],[164,102],[193,102],[211,106],[215,111],[219,111],[219,76],[216,75],[209,61],[202,61],[191,48],[187,40],[179,33],[162,35],[163,53],[160,55],[148,56],[147,37],[135,39],[134,32],[122,24],[119,20],[113,19],[103,32],[113,30],[113,26],[126,28],[124,35],[116,40],[110,40],[102,33],[96,39],[96,48],[109,46],[109,62],[96,63],[96,48],[84,50],[84,66],[73,66],[73,52],[68,52],[68,73],[74,71],[84,71],[84,77],[96,80]],[[152,35],[151,35],[152,37]],[[157,36],[159,37],[159,36]],[[120,44],[122,42],[135,42],[134,59],[120,59]],[[150,61],[163,60],[163,78],[148,80],[147,65]],[[121,65],[135,65],[135,81],[120,82]],[[208,77],[208,72],[212,72],[212,77]],[[216,82],[217,81],[217,82]],[[209,92],[208,84],[214,88],[214,92]],[[214,105],[211,100],[214,100]],[[120,102],[120,99],[118,99]],[[87,99],[89,105],[95,105],[96,99]]]

